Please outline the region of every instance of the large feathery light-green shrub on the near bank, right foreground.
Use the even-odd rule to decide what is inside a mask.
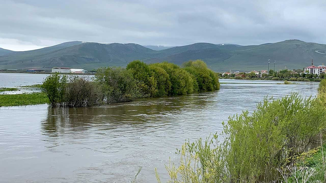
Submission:
[[[272,102],[265,99],[252,116],[244,112],[230,118],[224,132],[231,176],[234,180],[256,177],[257,181],[277,178],[276,168],[291,163],[325,129],[323,119],[325,111],[316,99],[297,94]]]

